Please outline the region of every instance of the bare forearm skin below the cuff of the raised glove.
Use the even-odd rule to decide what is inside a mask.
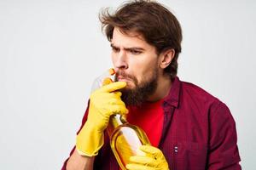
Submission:
[[[92,170],[95,156],[80,156],[77,150],[67,161],[67,170]]]

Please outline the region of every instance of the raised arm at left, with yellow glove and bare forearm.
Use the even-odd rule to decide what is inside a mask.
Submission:
[[[70,158],[65,161],[62,170],[93,169],[95,156],[104,143],[103,135],[109,116],[115,112],[122,115],[128,113],[125,103],[120,99],[121,93],[116,92],[125,86],[125,82],[113,82],[90,95],[89,108],[77,133],[76,147],[72,150]]]

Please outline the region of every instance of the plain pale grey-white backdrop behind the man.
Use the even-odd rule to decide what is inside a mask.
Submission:
[[[183,27],[178,76],[230,107],[256,167],[256,1],[160,1]],[[93,79],[111,66],[98,13],[122,1],[0,0],[0,169],[61,169]]]

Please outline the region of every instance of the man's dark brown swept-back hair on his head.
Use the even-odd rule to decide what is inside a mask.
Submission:
[[[164,72],[171,79],[177,75],[177,58],[181,53],[182,29],[177,18],[160,3],[139,0],[124,3],[115,13],[110,14],[109,8],[102,9],[99,14],[102,31],[105,31],[108,41],[112,41],[114,27],[127,33],[140,33],[146,42],[156,48],[157,54],[167,49],[174,49],[172,63]]]

